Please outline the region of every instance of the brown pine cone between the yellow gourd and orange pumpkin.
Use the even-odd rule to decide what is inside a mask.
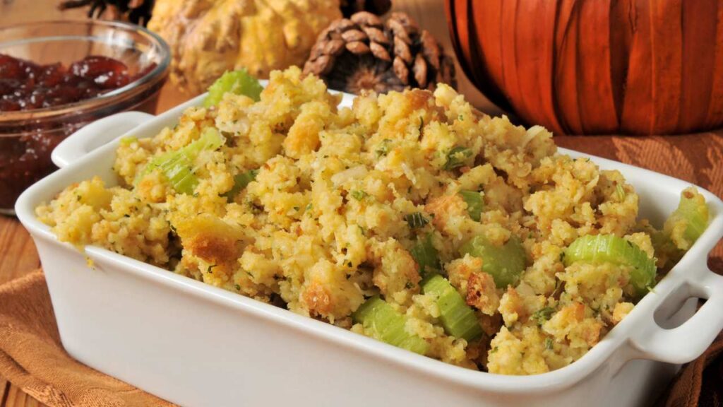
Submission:
[[[411,17],[398,12],[386,22],[369,12],[332,22],[312,47],[304,73],[348,93],[456,85],[452,59],[432,34],[420,32]]]

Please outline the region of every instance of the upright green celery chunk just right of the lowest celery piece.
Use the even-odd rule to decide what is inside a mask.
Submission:
[[[482,335],[482,327],[462,295],[452,287],[445,277],[432,275],[422,282],[422,293],[437,297],[440,309],[440,321],[448,335],[474,340]]]

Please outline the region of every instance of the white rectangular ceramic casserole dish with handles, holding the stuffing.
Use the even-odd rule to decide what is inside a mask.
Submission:
[[[17,201],[62,343],[100,372],[184,406],[638,406],[652,403],[677,364],[699,356],[723,329],[723,277],[706,266],[723,236],[723,202],[706,190],[708,229],[654,291],[583,358],[528,377],[444,364],[103,248],[84,254],[35,218],[35,206],[72,182],[100,175],[114,185],[119,136],[153,137],[203,97],[158,117],[127,112],[88,125],[54,151],[61,169]],[[688,186],[593,159],[623,172],[641,197],[641,217],[658,226]],[[707,298],[697,313],[694,298]]]

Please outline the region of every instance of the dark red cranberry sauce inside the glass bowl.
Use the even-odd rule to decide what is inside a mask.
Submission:
[[[78,109],[77,114],[59,119],[30,118],[24,122],[4,122],[4,112],[95,98],[134,82],[155,67],[150,64],[130,75],[123,62],[106,56],[87,56],[66,67],[60,63],[39,65],[0,54],[0,214],[12,213],[17,196],[56,169],[50,155],[58,143],[87,123],[119,110],[115,106]]]

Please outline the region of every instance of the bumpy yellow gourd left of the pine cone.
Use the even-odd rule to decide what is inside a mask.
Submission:
[[[226,70],[257,77],[302,65],[341,18],[339,0],[156,0],[148,28],[171,46],[171,80],[201,93]]]

